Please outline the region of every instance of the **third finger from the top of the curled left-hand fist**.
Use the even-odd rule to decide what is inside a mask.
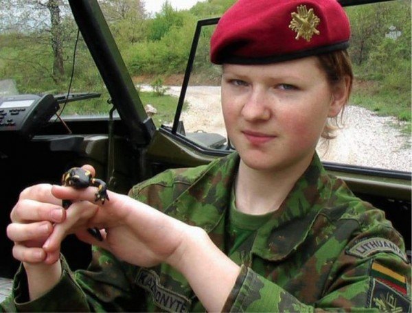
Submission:
[[[14,242],[27,240],[44,241],[52,233],[53,225],[50,222],[34,222],[30,224],[9,224],[6,233]]]

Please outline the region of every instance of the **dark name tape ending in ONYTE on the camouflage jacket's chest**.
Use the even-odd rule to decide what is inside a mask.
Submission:
[[[153,302],[168,312],[187,312],[191,301],[161,285],[159,275],[153,270],[141,268],[135,279],[138,286],[150,292]]]

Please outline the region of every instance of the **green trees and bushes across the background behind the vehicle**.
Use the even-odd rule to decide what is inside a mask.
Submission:
[[[149,0],[146,0],[149,1]],[[154,16],[142,0],[100,0],[100,6],[135,82],[161,79],[181,84],[196,21],[220,16],[234,0],[205,0],[190,10],[174,10],[165,1]],[[66,93],[71,78],[77,27],[62,0],[0,0],[0,80],[13,79],[19,93]],[[54,5],[54,6],[53,6]],[[56,30],[49,18],[58,8],[62,71],[54,68]],[[356,82],[352,103],[407,122],[411,131],[411,5],[408,0],[347,8],[352,24],[350,55]],[[45,17],[47,16],[47,17]],[[390,27],[400,32],[388,38]],[[216,69],[207,62],[211,32],[204,32],[196,58],[196,83],[216,84]],[[76,51],[72,92],[108,94],[86,45]],[[150,97],[155,95],[150,95]],[[106,101],[72,105],[69,113],[107,112]],[[175,103],[175,102],[174,102]],[[167,107],[167,105],[166,105]],[[174,108],[171,109],[172,113]]]

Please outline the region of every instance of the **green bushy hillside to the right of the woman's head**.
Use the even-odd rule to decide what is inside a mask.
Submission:
[[[411,129],[411,3],[408,0],[347,9],[356,82],[352,100]],[[409,130],[408,130],[409,129]]]

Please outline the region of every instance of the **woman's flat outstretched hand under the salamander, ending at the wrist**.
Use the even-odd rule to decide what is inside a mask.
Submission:
[[[122,194],[108,192],[109,201],[95,202],[95,187],[73,189],[53,186],[56,198],[73,201],[64,222],[56,224],[43,248],[55,251],[67,233],[111,251],[116,257],[138,266],[167,262],[193,227]],[[86,219],[82,212],[93,212]],[[89,213],[87,213],[87,216]],[[101,229],[104,240],[95,240],[85,230]]]

